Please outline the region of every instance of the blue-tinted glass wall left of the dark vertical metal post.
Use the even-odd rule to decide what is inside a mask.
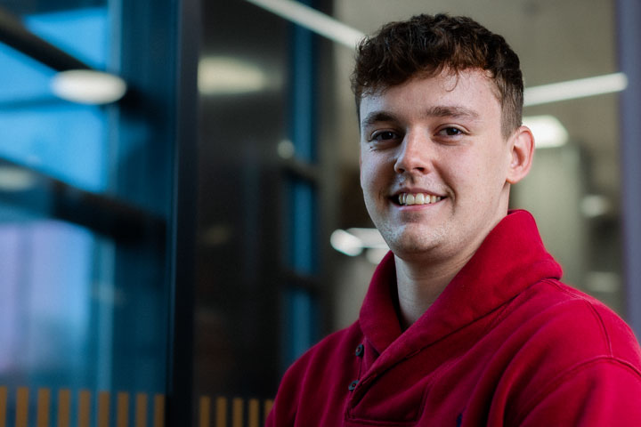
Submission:
[[[135,3],[0,2],[2,425],[165,417],[176,34],[170,2],[138,21]],[[64,53],[129,93],[63,101],[43,58]]]

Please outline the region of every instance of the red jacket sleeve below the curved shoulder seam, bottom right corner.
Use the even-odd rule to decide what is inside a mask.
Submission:
[[[619,359],[574,367],[532,398],[515,425],[641,425],[641,374]]]

